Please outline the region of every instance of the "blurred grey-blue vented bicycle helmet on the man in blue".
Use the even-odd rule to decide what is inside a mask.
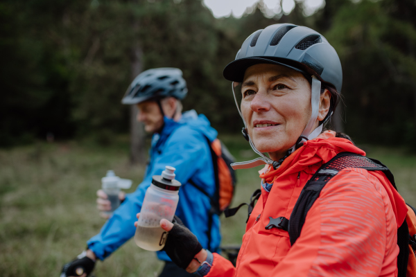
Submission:
[[[187,93],[187,82],[182,78],[180,69],[171,67],[148,69],[133,80],[121,103],[134,105],[169,96],[182,100]]]

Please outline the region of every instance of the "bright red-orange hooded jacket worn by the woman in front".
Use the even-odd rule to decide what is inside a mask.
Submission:
[[[397,276],[397,226],[404,199],[382,172],[345,168],[322,189],[291,247],[287,231],[266,230],[269,217],[290,218],[306,181],[339,152],[365,155],[327,131],[260,177],[261,188],[243,236],[236,267],[214,253],[212,276]]]

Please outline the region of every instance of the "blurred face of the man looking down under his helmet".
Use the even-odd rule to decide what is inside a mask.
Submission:
[[[144,130],[148,133],[155,133],[162,129],[163,116],[159,105],[155,101],[145,101],[137,104],[139,112],[137,121],[144,123]]]

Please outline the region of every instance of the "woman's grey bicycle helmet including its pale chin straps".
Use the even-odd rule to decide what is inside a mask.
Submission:
[[[311,80],[311,118],[295,145],[279,161],[272,161],[272,159],[257,150],[248,135],[247,124],[236,100],[234,91],[236,83],[243,82],[245,70],[254,64],[287,66],[300,71],[308,80]],[[243,42],[236,59],[225,66],[223,75],[225,79],[233,82],[234,100],[245,125],[243,135],[250,142],[254,152],[260,155],[260,158],[252,161],[233,163],[232,167],[234,169],[252,168],[265,163],[272,165],[273,168],[278,168],[288,155],[300,147],[300,145],[303,145],[304,141],[314,139],[322,132],[323,124],[313,129],[318,118],[322,82],[331,85],[338,92],[340,92],[343,84],[343,69],[340,59],[327,39],[311,28],[293,24],[274,24],[252,33]],[[331,114],[332,111],[330,110],[327,118]]]

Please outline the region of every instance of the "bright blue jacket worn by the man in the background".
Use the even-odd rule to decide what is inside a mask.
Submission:
[[[182,184],[175,214],[197,236],[202,247],[213,251],[218,249],[221,240],[218,215],[211,215],[211,244],[208,246],[210,200],[189,184],[192,179],[209,195],[214,195],[214,166],[205,138],[214,141],[216,136],[217,132],[211,127],[209,120],[202,114],[198,116],[196,111],[185,112],[179,122],[164,118],[162,132],[153,135],[150,162],[144,180],[134,193],[126,195],[124,202],[105,222],[100,233],[87,242],[88,248],[98,259],[103,260],[110,256],[135,235],[136,214],[140,212],[146,190],[153,175],[161,175],[165,166],[176,168],[175,179]],[[157,257],[160,260],[170,260],[164,251],[158,251]]]

